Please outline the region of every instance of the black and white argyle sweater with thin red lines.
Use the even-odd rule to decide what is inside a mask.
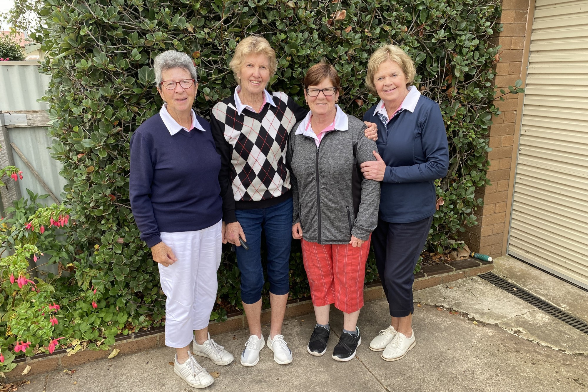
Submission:
[[[221,184],[227,223],[237,221],[235,210],[267,208],[292,196],[285,151],[292,127],[307,110],[283,92],[272,98],[276,106],[268,102],[259,113],[243,109],[239,115],[233,95],[212,108],[212,135],[222,162],[219,178],[227,182]]]

